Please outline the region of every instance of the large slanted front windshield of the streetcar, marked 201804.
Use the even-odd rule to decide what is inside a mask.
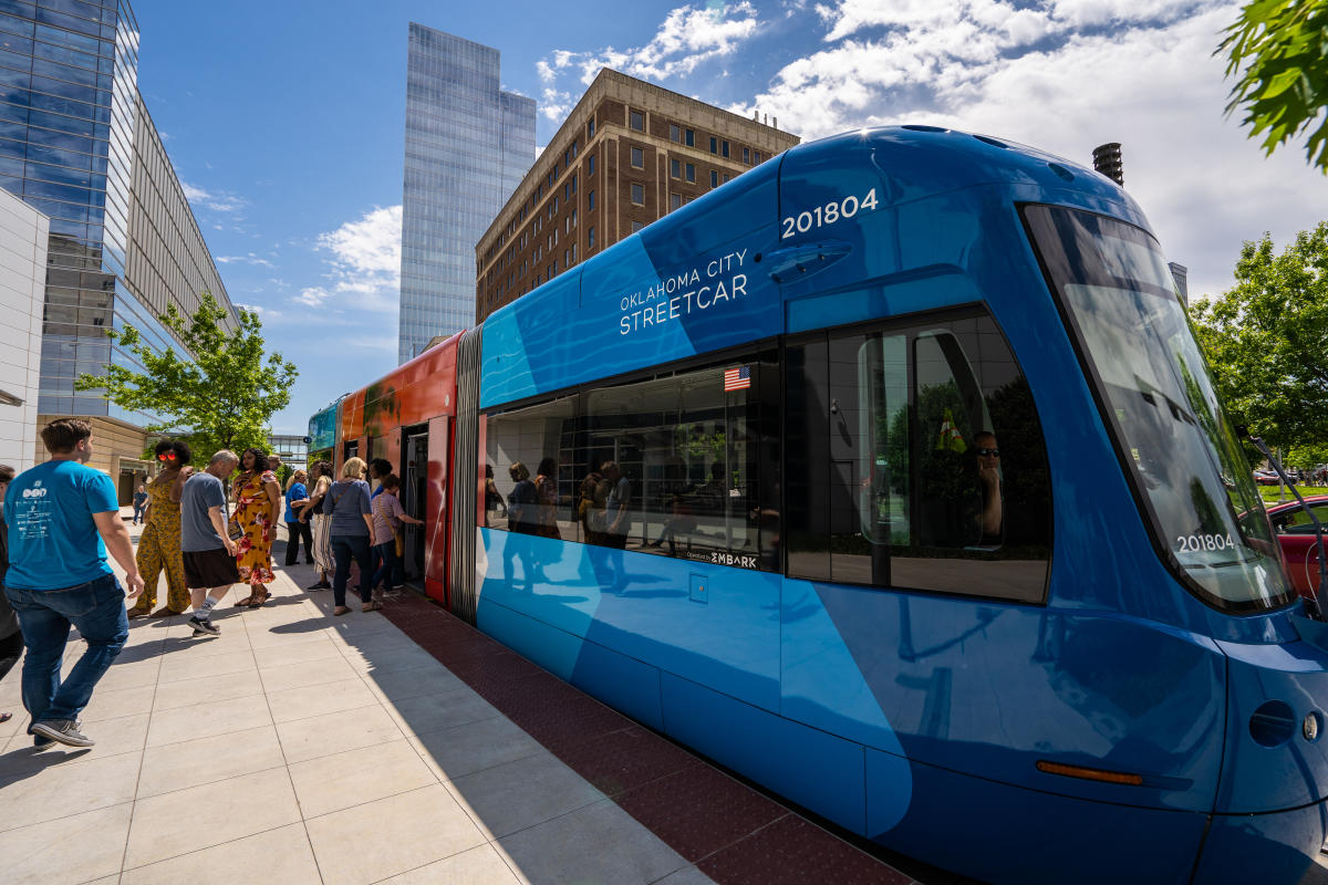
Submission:
[[[1289,602],[1248,462],[1157,243],[1084,211],[1024,215],[1173,567],[1224,610]]]

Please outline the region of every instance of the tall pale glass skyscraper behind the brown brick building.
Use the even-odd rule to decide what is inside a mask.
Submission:
[[[535,101],[498,50],[410,23],[398,360],[475,321],[475,243],[535,159]]]

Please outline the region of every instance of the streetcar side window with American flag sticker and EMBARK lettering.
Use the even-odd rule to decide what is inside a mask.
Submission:
[[[590,544],[773,571],[776,354],[592,390],[576,463]]]

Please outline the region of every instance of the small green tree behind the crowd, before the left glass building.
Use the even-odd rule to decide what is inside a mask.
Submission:
[[[131,325],[110,329],[108,337],[131,352],[145,372],[112,362],[104,375],[78,375],[74,387],[104,390],[122,409],[158,415],[161,422],[146,430],[183,431],[201,458],[220,448],[267,450],[267,422],[290,403],[299,370],[279,353],[264,362],[263,322],[252,310],[236,313],[239,326],[227,334],[226,310],[208,292],[191,317],[167,308],[162,325],[195,354],[193,361],[174,349],[154,349]]]

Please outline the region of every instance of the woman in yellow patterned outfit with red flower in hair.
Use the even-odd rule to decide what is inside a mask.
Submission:
[[[147,519],[138,537],[134,561],[143,576],[143,592],[129,609],[129,617],[169,617],[189,610],[189,588],[185,586],[185,563],[179,553],[179,495],[194,468],[193,452],[181,439],[157,443],[157,463],[162,470],[147,486]],[[157,605],[157,584],[166,572],[166,605]]]

